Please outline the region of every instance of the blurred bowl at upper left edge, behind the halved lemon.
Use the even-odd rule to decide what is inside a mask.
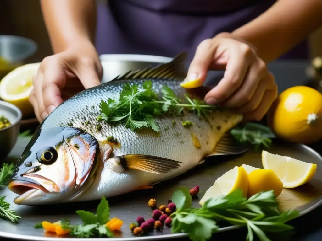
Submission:
[[[37,50],[35,41],[13,35],[0,35],[0,79],[14,68],[25,64]],[[5,64],[3,63],[5,61]]]

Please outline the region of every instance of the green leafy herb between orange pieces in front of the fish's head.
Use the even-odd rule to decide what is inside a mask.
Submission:
[[[70,235],[79,238],[113,237],[113,233],[106,227],[109,221],[109,203],[105,197],[102,197],[96,214],[85,210],[78,210],[76,213],[81,218],[82,224],[71,225],[68,219],[59,221],[62,229],[71,230]],[[36,227],[40,227],[39,224],[35,224]]]

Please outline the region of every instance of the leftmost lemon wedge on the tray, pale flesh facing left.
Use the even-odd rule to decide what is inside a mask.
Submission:
[[[218,177],[213,186],[208,188],[202,199],[199,201],[203,205],[210,198],[225,196],[236,189],[242,190],[244,197],[248,192],[248,175],[244,168],[235,166],[233,169]]]

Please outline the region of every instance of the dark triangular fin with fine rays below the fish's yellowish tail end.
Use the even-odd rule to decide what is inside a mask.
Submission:
[[[221,140],[217,143],[213,150],[213,153],[207,155],[209,156],[222,156],[222,155],[237,155],[247,151],[248,148],[242,146],[241,143],[236,141],[230,132],[226,132]]]

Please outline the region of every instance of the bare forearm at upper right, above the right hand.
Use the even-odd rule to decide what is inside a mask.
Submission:
[[[304,40],[322,25],[321,0],[278,0],[258,18],[232,32],[253,44],[270,62]]]

